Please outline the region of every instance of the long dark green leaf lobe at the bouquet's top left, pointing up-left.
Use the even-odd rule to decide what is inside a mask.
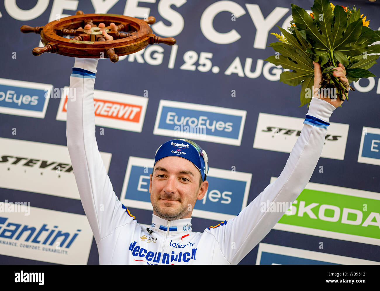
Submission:
[[[315,41],[315,47],[328,48],[326,35],[320,34],[317,25],[306,10],[291,4],[291,13],[293,14],[294,23],[301,29],[306,29],[306,35]]]

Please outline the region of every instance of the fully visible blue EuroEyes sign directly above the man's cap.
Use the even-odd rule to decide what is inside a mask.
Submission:
[[[246,114],[245,110],[160,100],[153,134],[240,146]]]

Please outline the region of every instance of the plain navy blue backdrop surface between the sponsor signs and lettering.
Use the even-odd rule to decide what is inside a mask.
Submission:
[[[54,87],[58,88],[69,86],[74,58],[52,53],[35,57],[31,51],[38,46],[39,36],[35,33],[23,34],[20,32],[21,25],[26,24],[35,27],[43,26],[49,22],[54,2],[59,1],[51,0],[40,16],[28,21],[14,19],[7,13],[4,2],[0,3],[2,14],[0,23],[3,27],[0,46],[2,67],[0,78],[53,84]],[[63,10],[63,14],[73,15],[76,10],[82,10],[84,13],[95,13],[90,0],[73,2],[78,3],[77,8],[75,10]],[[218,32],[226,33],[235,29],[241,35],[238,40],[229,44],[214,43],[207,39],[201,30],[200,19],[202,14],[207,7],[215,2],[217,1],[192,0],[179,7],[171,5],[171,9],[177,11],[184,19],[182,31],[177,35],[171,35],[176,38],[178,45],[174,68],[168,68],[171,47],[167,45],[160,45],[164,51],[162,63],[159,65],[150,65],[147,62],[139,63],[136,60],[130,62],[128,58],[120,60],[116,64],[107,59],[99,61],[95,89],[138,96],[143,96],[144,90],[147,90],[149,98],[141,133],[105,127],[105,135],[100,135],[97,126],[99,150],[112,154],[108,175],[119,198],[128,158],[136,156],[154,159],[158,146],[172,139],[168,136],[153,134],[157,109],[161,99],[247,111],[240,146],[207,141],[196,142],[206,150],[209,167],[231,170],[231,167],[235,166],[236,171],[252,173],[248,203],[263,191],[269,184],[271,177],[279,176],[287,162],[289,153],[253,148],[253,140],[260,112],[297,118],[305,117],[307,106],[299,107],[301,86],[285,85],[280,83],[278,78],[275,81],[268,80],[263,73],[257,78],[249,78],[248,76],[239,76],[237,73],[226,75],[225,71],[235,58],[239,57],[243,69],[246,59],[251,58],[252,68],[250,72],[255,72],[256,62],[259,59],[264,60],[274,54],[273,49],[268,45],[277,40],[269,33],[279,33],[279,29],[274,26],[269,30],[265,49],[255,48],[256,27],[247,10],[246,3],[258,4],[264,18],[275,7],[288,8],[285,16],[277,22],[277,25],[282,26],[285,19],[291,15],[290,3],[309,10],[313,1],[234,0],[233,2],[240,5],[245,14],[237,17],[236,21],[231,21],[231,12],[222,11],[215,16],[213,21],[213,26]],[[33,8],[37,1],[16,1],[16,3],[20,9],[28,10]],[[160,15],[158,12],[158,4],[159,0],[155,3],[139,2],[138,6],[149,8],[149,15],[156,17],[156,23],[162,21],[166,26],[172,25],[170,21],[164,18],[164,15]],[[380,1],[374,3],[369,1],[335,1],[334,4],[361,7],[361,12],[367,16],[367,20],[370,20],[369,27],[373,30],[379,29]],[[123,14],[125,6],[126,0],[120,0],[108,11],[102,13]],[[125,15],[142,18],[142,16],[130,15],[128,11]],[[160,35],[158,32],[154,31],[154,33]],[[187,51],[195,51],[198,56],[200,52],[212,52],[212,65],[217,65],[220,71],[213,73],[211,70],[200,72],[199,70],[180,69],[184,64],[183,56]],[[13,52],[17,53],[16,59],[12,58]],[[266,63],[264,61],[263,65]],[[198,63],[196,62],[195,65]],[[273,69],[275,67],[271,68],[269,72]],[[369,92],[350,91],[350,101],[344,102],[342,108],[334,110],[330,118],[330,122],[349,124],[344,160],[321,157],[310,182],[380,192],[379,165],[358,163],[363,126],[380,128],[378,111],[380,108],[380,92],[376,92],[377,87],[380,86],[378,84],[380,66],[376,64],[370,71],[377,76],[374,78],[376,82],[374,88]],[[369,81],[361,80],[360,84],[365,87]],[[232,90],[236,91],[236,97],[231,97]],[[66,146],[66,122],[56,120],[59,102],[60,99],[49,100],[44,118],[0,114],[0,137]],[[17,128],[17,135],[12,135],[12,128]],[[323,165],[324,174],[318,173],[320,165]],[[30,201],[31,206],[34,207],[84,215],[81,201],[76,199],[0,188],[0,201],[6,199],[9,201]],[[150,224],[152,211],[133,207],[129,207],[129,209],[139,223]],[[193,217],[193,231],[203,232],[205,228],[219,222]],[[318,250],[316,246],[321,241],[324,242],[325,247],[323,250]],[[262,242],[380,262],[380,247],[376,245],[278,230],[271,230]],[[240,264],[255,264],[257,250],[258,246]],[[49,264],[43,261],[5,255],[0,255],[0,263]],[[95,240],[92,242],[88,264],[98,264]]]

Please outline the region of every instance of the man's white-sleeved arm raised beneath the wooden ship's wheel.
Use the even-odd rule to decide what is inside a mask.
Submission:
[[[93,88],[97,64],[97,59],[75,59],[70,88],[76,95],[67,102],[66,135],[79,195],[98,243],[117,226],[132,223],[134,217],[112,189],[95,138]]]

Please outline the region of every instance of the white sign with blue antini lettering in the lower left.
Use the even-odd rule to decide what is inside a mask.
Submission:
[[[57,264],[87,264],[92,232],[85,215],[31,207],[0,213],[0,254]]]

